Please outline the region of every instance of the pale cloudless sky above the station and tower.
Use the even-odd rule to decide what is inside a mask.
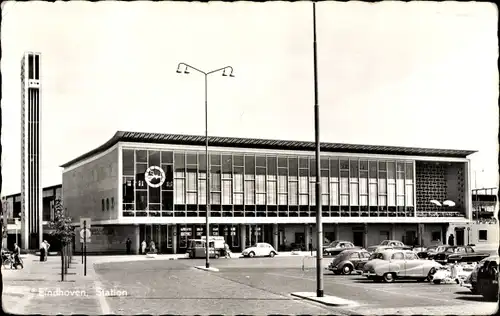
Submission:
[[[42,184],[116,131],[314,141],[309,2],[3,2],[2,194],[20,192],[25,51],[42,54]],[[477,150],[498,186],[497,9],[478,2],[317,4],[321,141]],[[476,176],[475,176],[476,175]]]

